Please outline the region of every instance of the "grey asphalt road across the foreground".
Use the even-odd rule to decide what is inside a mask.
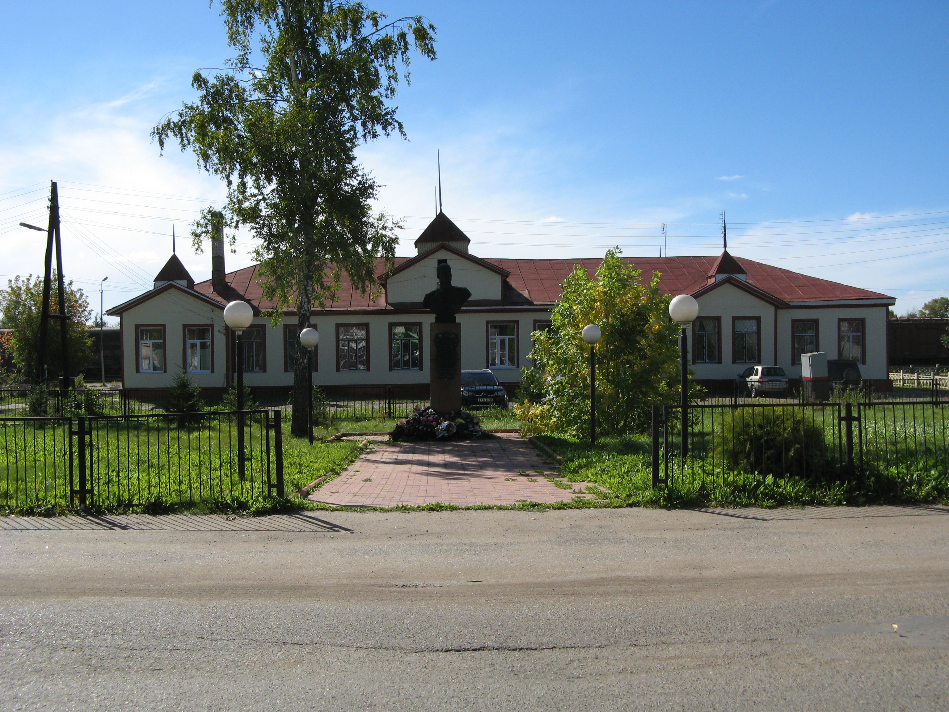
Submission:
[[[949,515],[322,518],[0,532],[0,707],[949,709]]]

